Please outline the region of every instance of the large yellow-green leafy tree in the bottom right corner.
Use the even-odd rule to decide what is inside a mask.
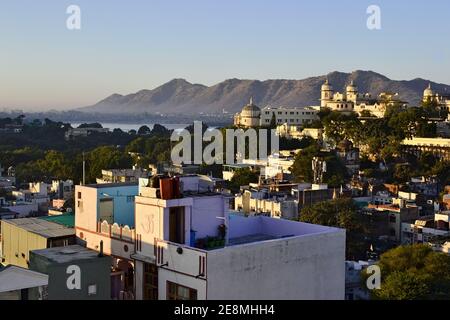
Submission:
[[[373,298],[383,300],[450,299],[450,257],[429,246],[392,249],[379,262],[381,289]]]

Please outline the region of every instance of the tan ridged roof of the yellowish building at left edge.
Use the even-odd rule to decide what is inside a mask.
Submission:
[[[41,218],[11,219],[3,220],[3,222],[9,223],[28,232],[38,234],[44,238],[60,238],[75,235],[74,228],[68,228],[62,224],[47,221]]]

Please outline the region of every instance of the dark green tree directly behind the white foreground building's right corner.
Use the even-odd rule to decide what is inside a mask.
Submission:
[[[305,207],[300,212],[300,221],[346,229],[347,257],[366,258],[365,229],[352,199],[324,201]]]

